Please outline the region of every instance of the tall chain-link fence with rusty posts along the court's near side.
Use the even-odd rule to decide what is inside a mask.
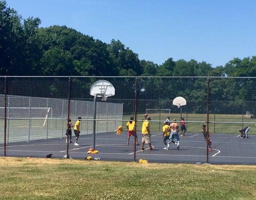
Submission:
[[[115,95],[106,102],[97,98],[94,119],[90,87],[100,79],[113,84]],[[67,148],[64,139],[67,119],[74,124],[82,116],[80,146],[69,145],[72,157],[84,158],[95,142],[100,152],[97,156],[108,160],[255,164],[255,81],[253,77],[2,76],[0,142],[5,143],[6,135],[7,147],[1,145],[0,153],[28,156],[32,153],[28,146],[33,147],[34,156],[53,152],[62,157]],[[173,105],[177,96],[184,97],[186,105]],[[140,150],[145,113],[151,117],[151,142],[155,150],[150,150],[147,144],[145,150]],[[133,136],[127,145],[126,124],[131,116],[136,118],[140,145],[135,144]],[[168,116],[179,125],[184,118],[185,133],[179,135],[179,149],[174,143],[170,143],[169,150],[164,149],[163,122]],[[211,146],[203,136],[203,124],[211,135]],[[124,131],[117,135],[115,129],[119,125]],[[248,138],[241,138],[239,129],[245,127],[249,127]]]

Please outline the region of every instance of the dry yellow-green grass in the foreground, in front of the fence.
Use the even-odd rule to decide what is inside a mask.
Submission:
[[[256,166],[0,157],[1,199],[256,199]]]

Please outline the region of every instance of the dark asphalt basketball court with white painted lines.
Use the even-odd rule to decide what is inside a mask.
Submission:
[[[141,133],[138,133],[141,143]],[[140,145],[136,146],[136,161],[147,159],[149,162],[206,162],[206,143],[202,133],[188,133],[180,137],[180,149],[172,143],[170,149],[163,149],[162,133],[152,133],[152,144],[155,150],[149,150],[145,144],[145,150],[140,151]],[[213,134],[212,151],[209,152],[209,163],[213,164],[256,164],[256,135],[249,135],[248,139],[240,138],[237,134]],[[73,136],[74,141],[74,136]],[[130,144],[126,145],[127,132],[117,135],[115,132],[99,133],[96,135],[97,154],[87,154],[93,145],[93,135],[81,135],[75,146],[69,144],[69,154],[72,158],[84,159],[86,156],[100,157],[101,160],[134,160],[134,137],[131,136]],[[29,142],[14,142],[7,144],[7,156],[33,156],[46,157],[53,153],[52,157],[62,158],[67,152],[65,138],[33,140]],[[4,144],[0,144],[0,156],[4,155]]]

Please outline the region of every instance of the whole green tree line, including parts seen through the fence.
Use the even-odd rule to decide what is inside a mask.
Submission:
[[[223,66],[215,67],[206,61],[173,60],[172,57],[162,64],[156,64],[150,60],[140,60],[138,54],[120,40],[112,39],[110,43],[105,43],[67,26],[40,27],[40,23],[41,19],[38,17],[23,19],[17,10],[8,7],[7,1],[0,0],[0,75],[256,76],[256,56],[233,58]],[[95,79],[90,78],[89,83],[93,81]],[[119,98],[126,98],[127,93],[133,95],[134,88],[127,85],[133,85],[134,80],[119,81],[112,78],[110,81],[118,85]],[[76,92],[76,97],[83,98],[88,93],[90,84],[82,84],[83,80],[79,79],[74,79],[73,82],[78,83],[74,84],[73,90],[80,91]],[[226,112],[232,113],[249,109],[245,101],[256,100],[254,82],[254,79],[212,79],[210,100],[215,102],[212,109],[220,110],[219,112],[226,109]],[[76,87],[79,84],[83,87]],[[35,81],[34,84],[35,88],[42,88],[40,96],[63,97],[66,94],[66,88],[61,89],[61,81],[52,83],[48,93],[42,92],[46,90],[46,86],[41,81]],[[170,99],[182,95],[190,103],[195,102],[194,105],[191,104],[189,111],[205,110],[204,106],[196,103],[205,101],[205,79],[141,79],[139,86],[145,88],[145,92],[140,94],[141,98]],[[18,91],[24,94],[24,88],[19,90],[19,87],[22,85],[17,82],[14,94]],[[127,92],[123,92],[124,90]],[[28,91],[28,95],[39,96],[31,92]],[[81,96],[77,96],[78,93]],[[161,108],[168,108],[168,103],[169,101],[162,101]],[[132,102],[130,104],[132,107]],[[158,104],[152,102],[146,108],[159,108]]]

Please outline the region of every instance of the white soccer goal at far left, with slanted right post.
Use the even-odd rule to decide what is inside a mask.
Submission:
[[[0,107],[0,116],[5,116],[5,107]],[[7,107],[8,118],[39,118],[43,119],[43,126],[46,125],[47,119],[53,117],[52,107]]]

